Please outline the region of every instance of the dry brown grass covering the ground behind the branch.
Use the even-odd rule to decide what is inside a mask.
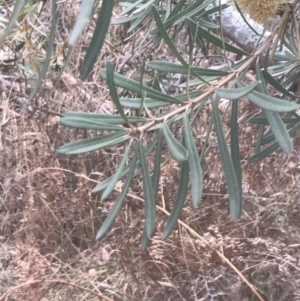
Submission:
[[[76,3],[59,4],[57,54],[76,19]],[[34,65],[32,55],[44,55],[40,45],[45,38],[40,32],[47,34],[43,24],[49,20],[49,9],[39,16],[41,22],[30,18],[36,29],[18,62]],[[16,37],[21,39],[20,28],[3,47],[7,56],[18,44]],[[87,31],[93,28],[91,22]],[[112,28],[112,42],[123,35],[122,29]],[[85,38],[79,42],[55,94],[49,96],[43,87],[25,113],[21,108],[30,91],[26,85],[34,82],[34,76],[25,78],[17,65],[0,76],[0,300],[97,300],[101,294],[106,300],[128,301],[256,300],[216,252],[184,227],[161,241],[166,215],[160,211],[151,246],[147,252],[140,250],[143,204],[138,198],[142,197],[138,178],[113,230],[95,242],[118,192],[104,203],[90,192],[116,169],[124,146],[82,156],[58,155],[56,149],[62,144],[93,135],[59,126],[59,116],[71,110],[113,113],[98,71],[110,59],[119,71],[134,76],[136,70],[129,66],[138,62],[138,55],[130,60],[130,43],[115,46],[120,52],[106,46],[95,72],[81,82],[78,72],[87,43]],[[52,69],[45,86],[55,77]],[[300,300],[300,142],[295,141],[289,157],[278,152],[247,164],[249,144],[256,135],[247,120],[256,109],[244,103],[239,112],[243,217],[237,223],[229,218],[218,149],[213,145],[203,164],[203,201],[194,210],[187,200],[181,220],[224,254],[266,300]],[[194,124],[199,142],[205,137],[210,115],[207,105]],[[228,120],[227,116],[227,125]],[[169,161],[162,170],[159,206],[170,211],[177,185],[178,167]]]

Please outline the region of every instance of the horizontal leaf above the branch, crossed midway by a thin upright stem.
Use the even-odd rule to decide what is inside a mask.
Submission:
[[[170,73],[180,73],[180,74],[188,74],[188,70],[186,67],[181,64],[163,62],[163,61],[150,61],[147,63],[147,66],[161,72],[170,72]],[[195,73],[200,76],[224,76],[228,75],[229,72],[222,70],[213,70],[199,67],[191,67]]]

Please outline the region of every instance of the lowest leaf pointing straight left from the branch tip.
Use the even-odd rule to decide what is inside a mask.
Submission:
[[[109,147],[130,139],[130,135],[126,132],[117,132],[113,134],[103,135],[96,138],[88,138],[74,141],[61,146],[57,152],[60,154],[82,154],[95,151],[104,147]]]

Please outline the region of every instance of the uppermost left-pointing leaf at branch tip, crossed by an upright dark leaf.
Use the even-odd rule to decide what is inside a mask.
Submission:
[[[90,113],[90,112],[66,112],[62,119],[82,119],[100,123],[109,123],[109,124],[124,124],[124,119],[118,115],[109,115],[109,114],[99,114],[99,113]],[[130,123],[138,123],[138,122],[146,122],[148,121],[146,118],[143,117],[135,117],[129,116],[127,117]]]

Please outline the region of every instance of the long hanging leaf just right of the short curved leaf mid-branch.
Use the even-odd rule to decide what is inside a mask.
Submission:
[[[191,171],[192,203],[195,208],[198,207],[203,192],[203,173],[199,154],[192,134],[190,121],[187,112],[183,117],[184,144],[188,150],[188,163]]]

